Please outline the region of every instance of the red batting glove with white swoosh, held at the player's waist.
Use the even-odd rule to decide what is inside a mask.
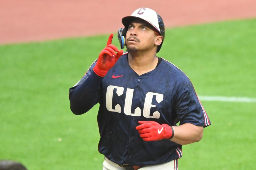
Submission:
[[[167,124],[160,125],[154,121],[139,121],[139,124],[136,130],[139,130],[139,136],[144,141],[158,141],[173,138],[173,128]]]

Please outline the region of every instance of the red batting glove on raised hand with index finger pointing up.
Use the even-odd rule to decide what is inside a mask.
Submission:
[[[94,73],[96,73],[98,76],[104,77],[109,69],[111,69],[115,65],[118,58],[121,57],[123,54],[123,50],[119,51],[116,46],[111,44],[113,36],[113,34],[110,34],[106,48],[101,51],[98,61],[93,67]]]

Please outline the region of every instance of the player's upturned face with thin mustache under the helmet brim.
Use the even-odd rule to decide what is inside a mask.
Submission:
[[[125,45],[127,51],[146,51],[154,48],[156,51],[157,45],[161,44],[157,40],[158,37],[150,24],[142,20],[134,20],[130,23],[126,33]]]

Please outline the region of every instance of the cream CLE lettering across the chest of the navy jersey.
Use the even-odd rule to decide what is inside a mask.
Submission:
[[[116,90],[116,93],[118,96],[123,95],[124,88],[119,86],[108,86],[107,87],[107,94],[106,94],[106,107],[107,110],[110,112],[117,112],[121,113],[121,106],[119,104],[115,105],[115,108],[112,108],[112,100],[113,100],[113,93],[114,89]],[[125,95],[125,106],[124,106],[124,113],[126,115],[130,116],[141,116],[141,108],[137,107],[134,110],[134,113],[131,113],[131,107],[132,107],[132,100],[133,100],[133,91],[134,89],[127,88],[126,95]],[[153,96],[156,96],[156,101],[160,103],[163,101],[163,94],[159,93],[153,93],[153,92],[147,92],[145,97],[145,103],[143,107],[143,116],[146,118],[156,118],[158,119],[160,117],[160,113],[158,111],[155,111],[153,113],[153,116],[150,116],[150,109],[151,107],[155,107],[155,105],[152,104]]]

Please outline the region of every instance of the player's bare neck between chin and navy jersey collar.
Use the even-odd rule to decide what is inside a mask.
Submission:
[[[129,52],[129,65],[138,75],[152,71],[158,63],[158,58],[155,54],[156,53]]]

